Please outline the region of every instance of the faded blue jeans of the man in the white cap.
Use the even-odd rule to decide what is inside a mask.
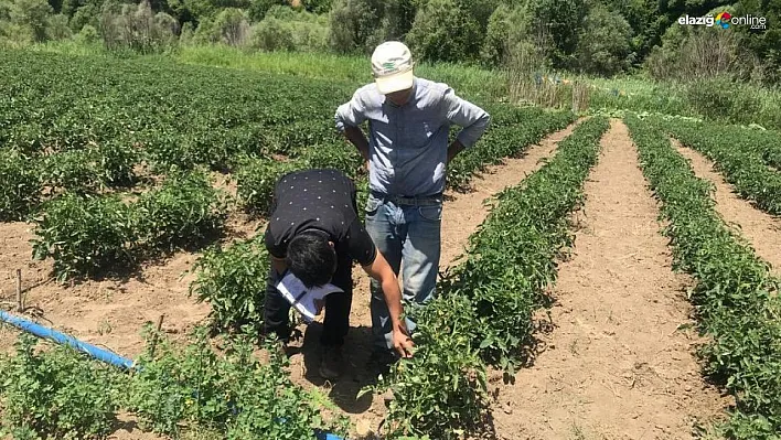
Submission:
[[[442,198],[394,200],[374,194],[366,202],[366,230],[398,276],[406,307],[424,304],[435,296],[439,272]],[[372,333],[376,346],[393,347],[387,303],[379,282],[372,280]],[[407,319],[411,332],[415,323]]]

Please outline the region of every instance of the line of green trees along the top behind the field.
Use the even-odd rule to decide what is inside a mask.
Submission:
[[[766,29],[682,25],[762,17]],[[183,42],[265,51],[371,53],[405,41],[421,60],[612,76],[730,75],[777,83],[781,0],[0,0],[0,41],[76,37],[154,52]],[[715,61],[714,61],[715,58]]]

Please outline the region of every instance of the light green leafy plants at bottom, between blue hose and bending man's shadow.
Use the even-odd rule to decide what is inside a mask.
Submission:
[[[225,439],[303,439],[315,429],[343,434],[343,419],[323,417],[317,403],[324,399],[292,384],[281,348],[267,343],[260,362],[253,339],[225,340],[218,352],[204,329],[184,346],[158,335],[154,356],[142,355],[130,380],[128,408],[145,427],[173,438],[199,429]]]

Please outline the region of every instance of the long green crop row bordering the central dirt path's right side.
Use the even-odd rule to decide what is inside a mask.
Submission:
[[[728,439],[778,439],[781,281],[739,232],[721,221],[709,182],[696,178],[673,149],[665,122],[633,116],[625,121],[668,222],[664,233],[671,238],[674,268],[696,280],[689,298],[709,340],[699,350],[705,373],[736,397],[732,416],[717,430]]]

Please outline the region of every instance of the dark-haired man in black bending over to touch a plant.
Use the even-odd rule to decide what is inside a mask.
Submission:
[[[409,356],[413,342],[402,321],[402,291],[398,279],[382,253],[377,251],[357,216],[355,185],[338,170],[304,170],[283,175],[274,192],[274,207],[265,235],[271,254],[266,288],[266,333],[287,340],[290,335],[290,302],[277,289],[290,270],[307,289],[332,283],[343,292],[325,297],[324,346],[320,375],[340,376],[342,345],[350,329],[352,262],[356,260],[374,282],[382,286],[389,312],[392,346]]]

